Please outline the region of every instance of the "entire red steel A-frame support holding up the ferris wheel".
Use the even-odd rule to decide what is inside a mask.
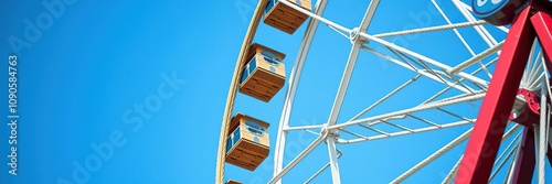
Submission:
[[[530,4],[513,21],[502,48],[505,52],[499,57],[473,137],[468,142],[456,183],[487,182],[486,180],[492,169],[492,161],[500,147],[498,136],[503,133],[506,128],[505,122],[512,106],[514,91],[519,86],[535,36],[544,51],[546,69],[552,71],[550,61],[550,56],[552,56],[550,7],[552,7],[551,3],[546,1],[530,1]],[[540,126],[546,125],[542,123]],[[526,128],[523,148],[513,173],[513,183],[530,183],[532,180],[535,164],[533,134],[532,130]],[[540,155],[543,156],[543,150],[540,150]],[[543,182],[543,180],[540,181]]]

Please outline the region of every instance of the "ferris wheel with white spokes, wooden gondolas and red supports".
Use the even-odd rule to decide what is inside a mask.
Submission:
[[[262,162],[273,162],[270,184],[285,183],[288,176],[304,178],[304,183],[317,183],[321,177],[350,183],[355,177],[351,170],[371,171],[364,176],[364,182],[374,178],[370,183],[402,183],[414,177],[442,183],[545,183],[552,164],[552,1],[432,0],[428,4],[440,21],[391,31],[371,26],[374,21],[385,21],[378,20],[385,17],[379,15],[385,13],[380,10],[385,3],[390,2],[370,1],[360,24],[348,28],[323,15],[327,0],[315,4],[308,0],[258,1],[229,93],[216,183],[223,183],[224,162],[251,171]],[[305,24],[293,65],[284,65],[285,54],[269,45],[252,44],[261,20],[288,34],[297,34]],[[350,41],[351,48],[342,58],[347,62],[332,104],[326,107],[330,112],[327,120],[304,123],[291,115],[300,98],[297,94],[305,88],[299,80],[309,67],[306,62],[317,54],[312,42],[325,39],[315,37],[322,26]],[[446,42],[424,39],[424,44],[434,45],[427,48],[405,42],[413,36],[443,37],[443,33],[447,33]],[[385,76],[353,75],[363,69],[358,68],[364,66],[363,59],[396,69],[385,71]],[[289,76],[285,76],[286,67],[291,68]],[[367,83],[379,87],[370,91],[351,87]],[[280,120],[270,127],[277,129],[276,136],[269,138],[269,123],[254,115],[232,115],[237,91],[262,101],[285,93]],[[358,98],[365,96],[370,98]],[[348,108],[347,100],[354,100],[355,107]],[[365,106],[359,109],[357,105],[362,102]],[[311,139],[302,147],[290,147],[297,132]],[[404,145],[406,139],[420,143]],[[427,142],[437,147],[424,147]],[[289,149],[297,151],[290,154]],[[273,161],[267,159],[268,150],[274,151]],[[314,154],[328,159],[309,160]],[[396,176],[375,180],[378,170]]]

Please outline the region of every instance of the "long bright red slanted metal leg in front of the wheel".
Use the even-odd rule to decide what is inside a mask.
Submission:
[[[457,184],[487,183],[535,33],[531,7],[513,21],[460,163]]]

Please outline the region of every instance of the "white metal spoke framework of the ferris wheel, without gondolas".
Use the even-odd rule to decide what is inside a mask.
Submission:
[[[428,131],[438,131],[444,129],[453,129],[457,127],[473,126],[477,120],[477,113],[465,115],[452,110],[449,107],[470,107],[479,111],[480,104],[486,97],[489,89],[489,83],[492,78],[492,68],[497,65],[497,61],[501,55],[500,51],[505,46],[503,40],[497,40],[491,32],[487,30],[485,25],[487,22],[477,20],[470,13],[471,8],[459,0],[452,0],[449,3],[457,8],[457,12],[465,18],[464,22],[453,23],[448,15],[443,11],[439,4],[432,0],[432,4],[438,10],[439,14],[447,24],[442,25],[431,25],[421,29],[402,30],[395,32],[384,32],[376,34],[369,34],[370,22],[376,15],[376,10],[380,4],[379,0],[372,0],[364,13],[364,17],[358,28],[346,28],[336,22],[332,22],[321,14],[323,13],[328,0],[319,0],[315,6],[315,11],[306,11],[296,4],[288,1],[280,1],[297,11],[310,15],[310,22],[307,25],[299,52],[297,54],[294,69],[288,80],[288,88],[286,90],[284,108],[282,111],[280,122],[278,127],[278,134],[276,141],[275,156],[274,156],[274,175],[268,182],[280,183],[282,178],[291,171],[301,160],[308,156],[318,145],[322,142],[327,144],[329,162],[322,165],[316,173],[312,174],[305,183],[311,182],[316,176],[320,175],[322,171],[330,167],[331,181],[332,183],[341,183],[341,174],[339,170],[338,159],[341,155],[347,155],[347,152],[338,150],[340,144],[355,144],[374,140],[392,139],[395,137],[404,137],[416,133],[424,133]],[[384,3],[384,2],[382,2]],[[347,64],[342,74],[342,78],[337,90],[333,105],[331,107],[330,115],[326,122],[320,122],[319,125],[310,126],[294,126],[293,120],[290,120],[291,109],[294,107],[294,101],[296,98],[296,93],[299,86],[299,79],[302,73],[305,62],[307,61],[307,54],[309,52],[310,45],[314,40],[316,30],[319,28],[319,23],[323,23],[336,33],[343,35],[346,39],[351,41],[351,51],[347,59]],[[477,34],[477,37],[482,40],[488,46],[481,52],[475,52],[473,46],[468,44],[465,35],[460,34],[459,29],[473,29]],[[497,26],[496,30],[502,31],[503,33],[509,32],[505,26]],[[438,61],[432,58],[427,53],[418,53],[392,43],[389,37],[412,35],[412,34],[431,34],[434,32],[452,31],[455,33],[456,37],[463,43],[465,48],[471,54],[471,57],[463,61]],[[384,48],[384,50],[378,50]],[[396,86],[394,89],[390,90],[386,95],[382,96],[380,99],[375,100],[373,104],[369,105],[365,109],[359,111],[355,116],[351,117],[347,121],[339,122],[338,116],[346,98],[348,86],[352,76],[352,71],[354,69],[355,63],[359,58],[359,53],[364,51],[368,54],[372,54],[392,63],[396,66],[405,68],[412,72],[412,77],[404,80],[403,84]],[[543,68],[546,65],[543,64],[545,58],[543,56],[543,51],[539,44],[533,44],[527,64],[526,71],[520,83],[520,88],[524,88],[531,91],[541,89],[542,94],[541,106],[548,107],[546,95],[552,94],[550,90],[550,84],[546,79],[549,78],[548,73]],[[343,58],[344,59],[344,58]],[[447,65],[446,63],[457,63],[456,65]],[[442,89],[434,91],[429,98],[420,99],[420,101],[413,101],[410,107],[395,109],[388,112],[374,113],[374,109],[378,109],[382,104],[389,101],[389,99],[396,98],[403,95],[404,90],[408,87],[416,87],[416,82],[421,79],[426,79],[435,82],[442,85]],[[545,82],[545,83],[544,83]],[[417,86],[420,87],[420,86]],[[513,99],[512,113],[522,111],[526,105],[526,99],[521,96],[517,96]],[[550,115],[550,108],[542,108],[542,115]],[[431,113],[437,117],[443,117],[442,119],[431,119],[425,117],[425,115]],[[541,116],[541,122],[548,122],[550,118]],[[540,126],[533,130],[528,130],[523,126],[517,123],[509,123],[509,128],[506,133],[502,134],[501,141],[507,143],[507,147],[501,150],[500,154],[493,159],[492,171],[490,173],[490,180],[495,178],[499,171],[507,171],[503,182],[514,183],[518,180],[517,173],[520,170],[521,161],[523,159],[523,153],[530,153],[524,149],[526,144],[538,142],[535,145],[538,152],[533,153],[538,158],[538,175],[539,181],[543,182],[544,177],[544,155],[549,144],[549,126]],[[284,165],[284,154],[286,147],[286,137],[290,131],[306,131],[312,133],[316,139],[307,145],[295,159],[289,163]],[[422,167],[431,164],[433,161],[438,159],[440,155],[450,151],[453,148],[458,147],[460,143],[465,142],[470,134],[473,129],[458,136],[449,143],[443,145],[442,149],[436,150],[433,154],[428,155],[426,159],[422,160],[420,163],[413,165],[412,169],[405,171],[403,174],[399,175],[396,178],[391,181],[391,183],[401,183],[407,180],[411,175],[418,172]],[[532,136],[534,134],[534,138]],[[514,136],[511,138],[511,136]],[[533,142],[531,142],[533,141]],[[443,183],[452,183],[456,177],[460,166],[463,156],[458,158],[458,162],[450,169],[448,174],[444,177]],[[506,166],[506,167],[505,167]]]

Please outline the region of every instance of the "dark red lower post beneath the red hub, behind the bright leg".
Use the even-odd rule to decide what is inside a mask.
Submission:
[[[528,127],[523,128],[522,144],[516,161],[512,183],[531,183],[534,172],[534,132]]]

